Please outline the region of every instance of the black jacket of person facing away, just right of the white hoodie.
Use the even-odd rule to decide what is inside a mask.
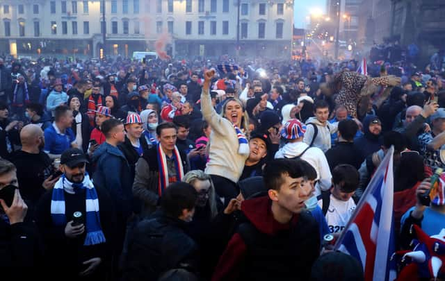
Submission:
[[[357,157],[358,154],[353,142],[339,142],[325,153],[331,171],[339,164],[350,164],[359,169],[362,162]]]

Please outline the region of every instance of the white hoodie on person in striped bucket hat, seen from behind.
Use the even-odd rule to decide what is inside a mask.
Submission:
[[[300,155],[308,147],[304,142],[293,142],[285,144],[275,153],[277,158],[293,158]],[[332,174],[327,164],[326,156],[320,148],[311,147],[305,154],[301,156],[302,160],[307,161],[317,172],[318,183],[315,186],[315,195],[321,194],[321,190],[325,191],[331,187]]]

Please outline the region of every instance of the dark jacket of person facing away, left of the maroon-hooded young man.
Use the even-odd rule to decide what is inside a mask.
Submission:
[[[123,280],[158,280],[170,269],[196,271],[197,246],[185,225],[164,214],[141,221],[129,241]]]

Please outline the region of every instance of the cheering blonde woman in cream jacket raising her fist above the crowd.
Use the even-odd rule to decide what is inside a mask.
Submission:
[[[249,157],[248,116],[243,103],[228,99],[221,115],[211,105],[209,87],[215,71],[204,74],[201,93],[202,116],[210,124],[209,162],[205,172],[211,176],[216,193],[228,203],[238,193],[238,182],[243,173],[244,162]]]

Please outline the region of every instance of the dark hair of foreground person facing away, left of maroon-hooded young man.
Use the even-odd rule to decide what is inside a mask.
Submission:
[[[161,209],[167,216],[177,219],[182,214],[182,210],[193,210],[196,199],[195,187],[187,182],[173,182],[163,191]]]

